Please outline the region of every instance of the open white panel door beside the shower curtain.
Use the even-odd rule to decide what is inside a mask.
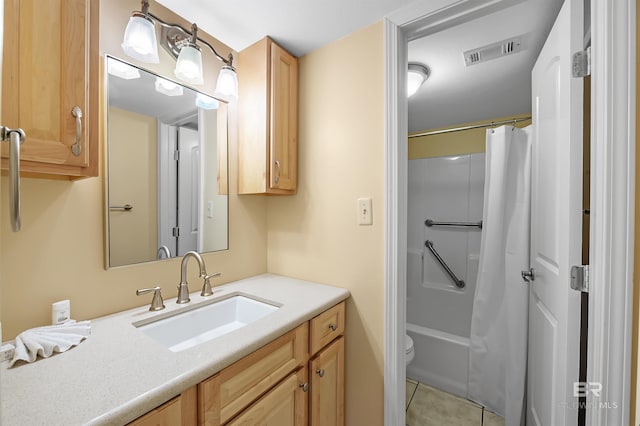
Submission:
[[[577,425],[580,294],[582,80],[571,54],[582,50],[582,0],[565,0],[532,71],[533,156],[527,424]]]

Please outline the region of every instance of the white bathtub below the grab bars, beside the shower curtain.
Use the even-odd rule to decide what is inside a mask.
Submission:
[[[407,377],[467,397],[469,338],[407,323],[415,358],[407,366]]]

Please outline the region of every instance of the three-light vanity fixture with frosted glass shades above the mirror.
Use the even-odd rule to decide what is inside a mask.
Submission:
[[[205,45],[224,64],[218,74],[216,93],[238,96],[238,76],[233,67],[233,55],[230,53],[224,58],[210,43],[198,37],[198,26],[195,23],[191,26],[191,31],[188,31],[178,24],[170,24],[158,18],[149,12],[148,0],[141,1],[140,11],[131,13],[122,42],[124,53],[141,62],[159,63],[155,24],[162,27],[160,45],[176,59],[176,77],[195,85],[204,83],[200,45]]]

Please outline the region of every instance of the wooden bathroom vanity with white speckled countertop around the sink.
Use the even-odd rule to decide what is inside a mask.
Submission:
[[[190,306],[165,300],[92,321],[68,352],[2,366],[3,425],[277,424],[344,422],[347,290],[277,275],[191,294],[191,309],[241,294],[272,303],[264,317],[186,349],[135,324]],[[174,317],[175,318],[175,317]]]

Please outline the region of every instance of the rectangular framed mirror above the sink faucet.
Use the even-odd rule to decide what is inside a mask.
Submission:
[[[105,56],[107,267],[228,248],[227,105]]]

